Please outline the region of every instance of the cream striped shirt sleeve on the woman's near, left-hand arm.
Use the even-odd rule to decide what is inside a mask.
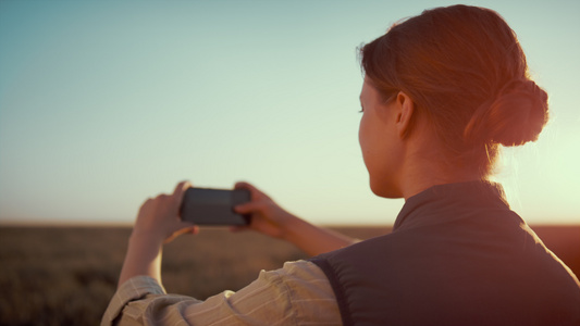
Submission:
[[[114,294],[101,326],[113,325],[342,325],[324,273],[307,261],[260,272],[237,292],[206,301],[166,294],[155,279],[137,276]]]

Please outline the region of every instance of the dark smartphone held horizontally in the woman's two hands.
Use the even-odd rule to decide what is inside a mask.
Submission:
[[[248,215],[234,212],[234,206],[250,201],[247,189],[189,188],[185,190],[181,217],[196,225],[248,225]]]

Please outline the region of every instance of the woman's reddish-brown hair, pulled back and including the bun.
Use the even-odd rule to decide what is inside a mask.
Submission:
[[[448,167],[485,177],[498,145],[533,141],[547,95],[527,72],[516,34],[494,11],[454,5],[395,24],[360,49],[366,79],[385,101],[399,91],[424,118]]]

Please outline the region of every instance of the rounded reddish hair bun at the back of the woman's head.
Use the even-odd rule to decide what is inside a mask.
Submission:
[[[538,139],[547,117],[547,93],[533,80],[514,79],[476,110],[464,136],[468,141],[520,146]]]

